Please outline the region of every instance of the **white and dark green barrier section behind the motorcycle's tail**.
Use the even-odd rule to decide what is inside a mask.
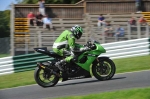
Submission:
[[[33,70],[36,67],[36,60],[40,59],[51,60],[50,57],[40,53],[0,58],[0,75]]]

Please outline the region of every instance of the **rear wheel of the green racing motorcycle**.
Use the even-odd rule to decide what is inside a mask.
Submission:
[[[34,71],[34,79],[37,82],[37,84],[42,87],[55,86],[59,81],[59,77],[39,67],[36,67]]]

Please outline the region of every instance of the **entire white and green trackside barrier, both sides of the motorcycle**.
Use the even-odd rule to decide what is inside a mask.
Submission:
[[[142,38],[102,44],[102,46],[106,49],[106,53],[101,54],[100,56],[108,56],[111,59],[116,59],[149,55],[149,42],[149,38]],[[0,58],[0,75],[33,70],[36,67],[37,61],[47,61],[51,59],[52,58],[40,53]]]

